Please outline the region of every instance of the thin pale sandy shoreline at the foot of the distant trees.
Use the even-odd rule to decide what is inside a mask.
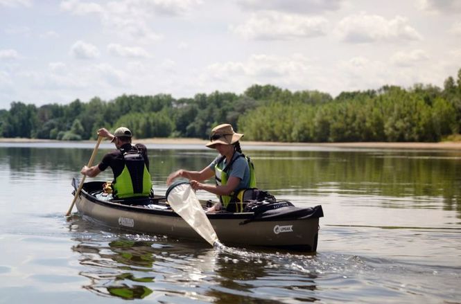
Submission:
[[[134,139],[143,144],[168,145],[205,145],[208,141],[200,138],[140,138]],[[93,143],[94,141],[55,141],[52,139],[35,138],[0,138],[0,143]],[[440,143],[280,143],[272,141],[242,141],[242,145],[278,145],[278,146],[317,146],[317,147],[357,147],[357,148],[388,148],[388,149],[440,149],[461,150],[461,141],[442,141]]]

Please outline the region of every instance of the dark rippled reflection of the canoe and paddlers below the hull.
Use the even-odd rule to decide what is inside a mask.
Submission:
[[[296,298],[297,293],[299,301],[315,301],[311,292],[317,288],[317,272],[308,262],[313,255],[213,249],[204,242],[101,230],[76,215],[67,226],[76,243],[71,249],[80,254],[85,269],[79,274],[89,280],[82,287],[99,296],[280,303],[263,296],[275,288],[281,298]]]

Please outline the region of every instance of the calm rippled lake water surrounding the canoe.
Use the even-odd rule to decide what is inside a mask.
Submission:
[[[243,145],[260,188],[322,204],[318,253],[305,254],[133,234],[75,209],[66,219],[93,147],[0,143],[0,303],[461,303],[461,152]],[[149,148],[157,193],[214,157]]]

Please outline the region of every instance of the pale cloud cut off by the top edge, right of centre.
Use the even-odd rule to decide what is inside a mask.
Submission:
[[[343,0],[239,0],[245,10],[279,10],[296,13],[318,13],[338,10]]]

